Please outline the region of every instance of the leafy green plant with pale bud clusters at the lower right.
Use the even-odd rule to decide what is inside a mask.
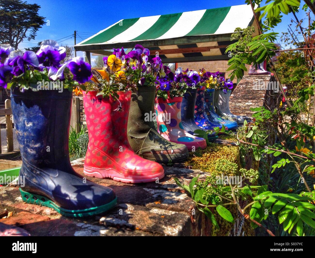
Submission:
[[[225,159],[218,160],[216,164],[216,170],[222,174],[226,173],[226,169],[235,173],[237,168],[237,164]],[[291,235],[303,236],[308,227],[315,229],[315,191],[300,194],[273,193],[267,191],[267,185],[251,185],[257,182],[258,171],[239,169],[239,172],[241,176],[234,178],[210,175],[205,180],[198,180],[198,177],[195,177],[189,185],[183,185],[176,177],[174,180],[178,186],[191,194],[197,209],[203,212],[216,228],[219,228],[219,224],[213,214],[214,209],[224,220],[234,223],[234,217],[226,207],[236,206],[238,212],[251,221],[254,228],[260,226],[272,236],[274,234],[261,224],[268,216],[276,215],[279,224],[283,224],[284,231]],[[241,200],[247,200],[248,204],[242,206]]]

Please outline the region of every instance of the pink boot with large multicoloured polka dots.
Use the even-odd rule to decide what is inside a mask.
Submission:
[[[176,143],[185,143],[188,150],[194,151],[199,147],[205,149],[205,139],[196,137],[186,132],[181,123],[182,97],[157,99],[155,110],[157,112],[158,132],[167,140]]]

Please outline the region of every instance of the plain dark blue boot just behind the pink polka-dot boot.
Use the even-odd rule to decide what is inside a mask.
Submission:
[[[194,134],[195,130],[200,130],[197,123],[195,122],[195,104],[197,98],[197,89],[188,88],[184,94],[182,105],[181,105],[181,123],[185,131],[190,134]],[[208,140],[214,141],[218,136],[215,133],[208,134]]]

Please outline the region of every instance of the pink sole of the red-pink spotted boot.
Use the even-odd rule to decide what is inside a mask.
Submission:
[[[84,175],[95,177],[95,178],[112,178],[115,181],[123,183],[147,183],[153,182],[157,179],[162,179],[164,177],[164,171],[155,175],[145,175],[145,176],[134,176],[134,175],[122,175],[114,169],[98,169],[98,168],[89,168],[84,166],[83,169]],[[135,177],[137,179],[135,179]]]

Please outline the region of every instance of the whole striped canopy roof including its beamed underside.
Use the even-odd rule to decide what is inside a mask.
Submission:
[[[253,24],[250,5],[123,19],[75,45],[77,51],[132,48],[141,44],[163,62],[228,59],[235,28]]]

